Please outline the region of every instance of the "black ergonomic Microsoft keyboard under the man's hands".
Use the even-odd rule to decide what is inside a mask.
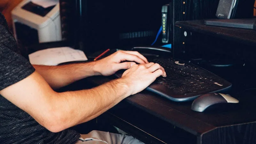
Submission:
[[[221,92],[231,83],[192,63],[167,58],[148,59],[160,64],[167,77],[158,77],[146,90],[157,93],[172,101],[189,101],[209,92]],[[118,71],[116,76],[122,76]]]

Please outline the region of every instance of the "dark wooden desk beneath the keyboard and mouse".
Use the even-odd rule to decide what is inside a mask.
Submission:
[[[114,76],[95,76],[87,81],[99,85]],[[98,117],[145,143],[249,144],[256,143],[256,97],[241,95],[232,109],[199,113],[192,102],[172,102],[151,92],[132,95]]]

